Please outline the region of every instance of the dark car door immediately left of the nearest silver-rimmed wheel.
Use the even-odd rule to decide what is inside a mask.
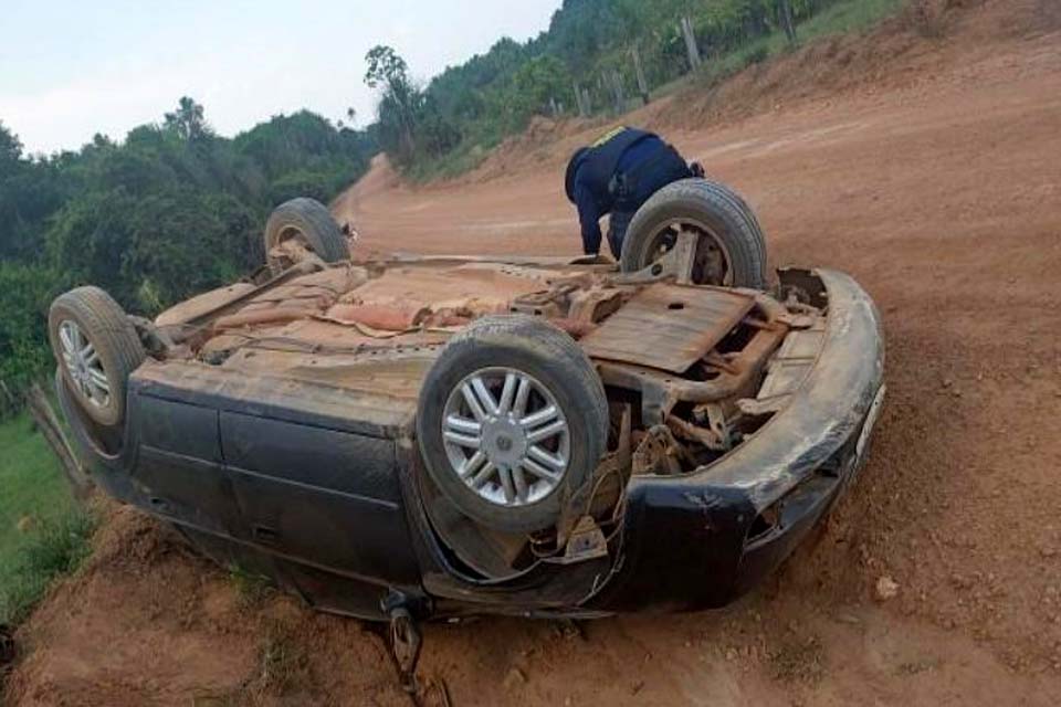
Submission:
[[[232,411],[220,430],[255,544],[380,584],[419,581],[393,440]]]

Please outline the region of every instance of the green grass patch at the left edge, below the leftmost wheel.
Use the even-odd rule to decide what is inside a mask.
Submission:
[[[93,519],[22,413],[0,422],[0,623],[18,623],[88,552]]]

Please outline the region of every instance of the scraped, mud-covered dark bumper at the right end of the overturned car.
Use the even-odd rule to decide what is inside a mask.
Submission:
[[[829,317],[808,379],[715,464],[631,481],[623,558],[593,606],[726,604],[774,571],[857,477],[884,395],[880,316],[849,276],[815,275]]]

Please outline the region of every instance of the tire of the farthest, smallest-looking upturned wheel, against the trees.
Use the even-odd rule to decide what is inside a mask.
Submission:
[[[350,250],[339,224],[332,218],[327,207],[316,199],[300,197],[285,201],[273,210],[265,223],[265,261],[273,274],[285,267],[283,258],[270,255],[272,250],[288,238],[300,238],[303,244],[325,263],[349,260]]]

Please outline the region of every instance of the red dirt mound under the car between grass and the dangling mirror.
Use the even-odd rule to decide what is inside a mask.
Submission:
[[[230,576],[109,506],[87,566],[19,631],[18,705],[408,705],[382,641]],[[354,697],[356,696],[356,698]]]

